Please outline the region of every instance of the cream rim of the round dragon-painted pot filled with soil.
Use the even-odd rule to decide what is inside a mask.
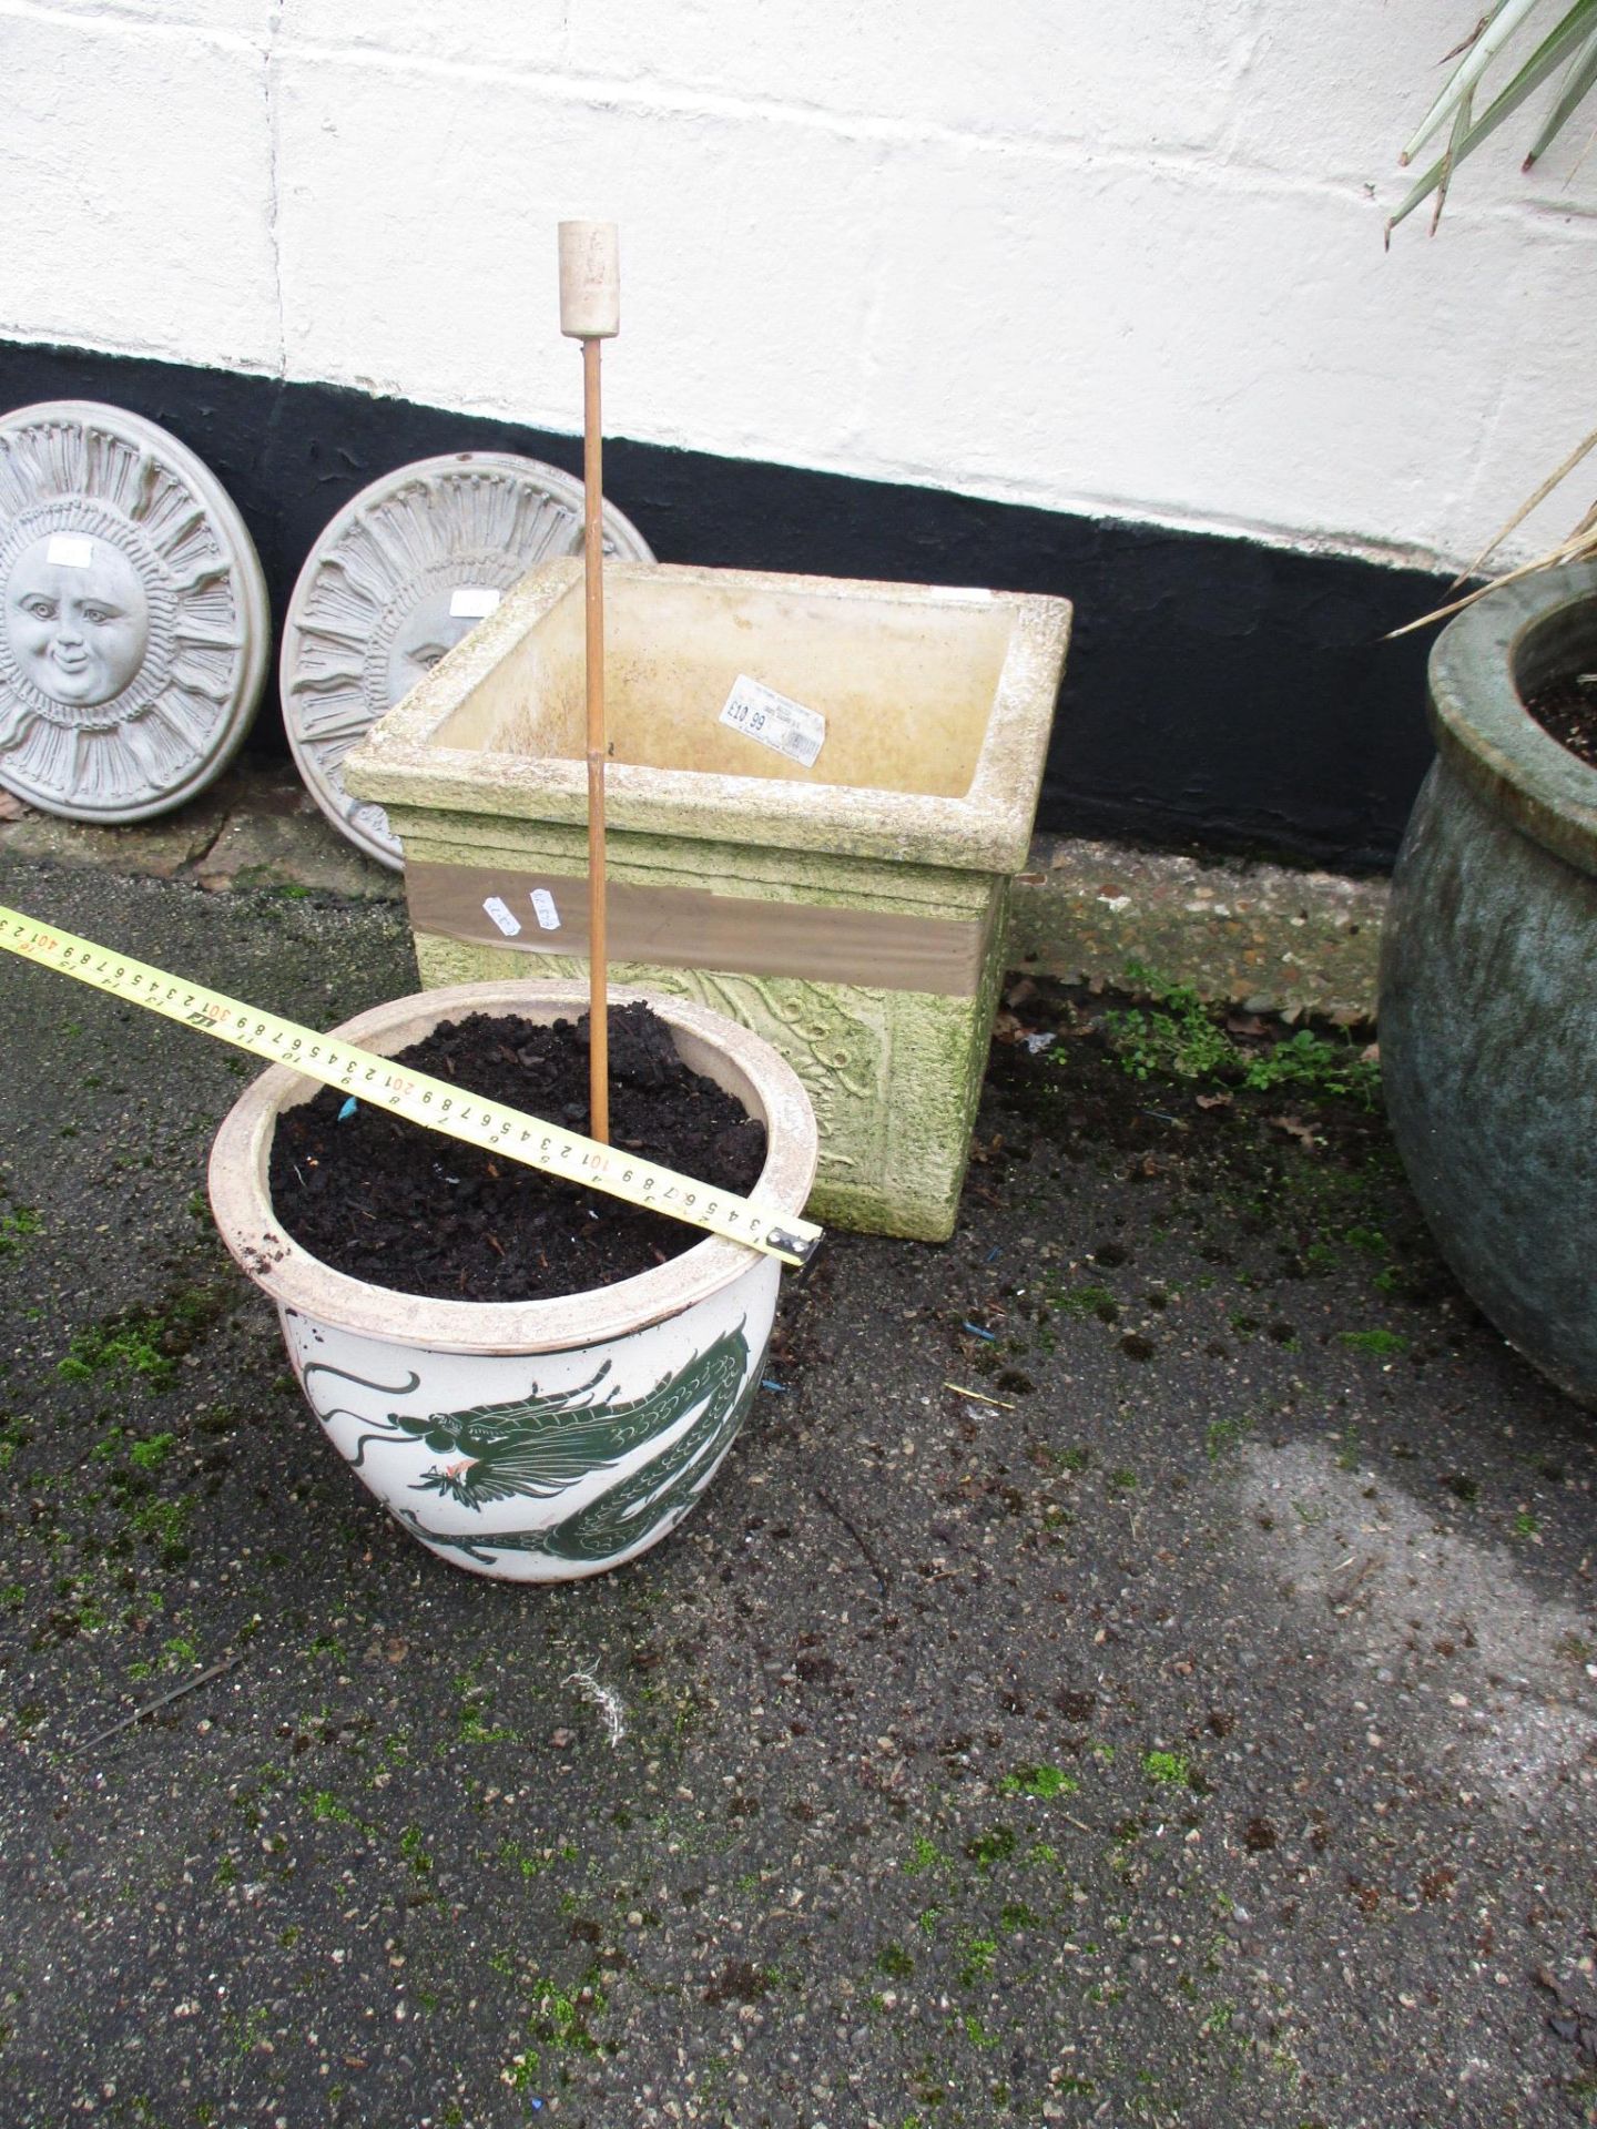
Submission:
[[[709,1043],[730,1060],[762,1111],[767,1156],[750,1196],[775,1211],[803,1211],[816,1173],[816,1118],[798,1075],[771,1043],[707,1005],[643,990],[611,988],[611,1005],[645,999],[671,1028]],[[334,1035],[373,1050],[402,1050],[451,1013],[509,1013],[530,1005],[554,1018],[588,1009],[588,986],[571,981],[451,984],[411,992],[345,1020]],[[390,1037],[383,1043],[383,1037]],[[273,1216],[268,1162],[281,1109],[319,1092],[319,1082],[270,1064],[232,1105],[211,1145],[211,1209],[241,1269],[281,1309],[371,1337],[405,1339],[439,1352],[560,1352],[626,1337],[677,1316],[730,1286],[750,1267],[750,1250],[720,1235],[613,1286],[545,1301],[439,1301],[375,1286],[334,1271],[302,1250]]]

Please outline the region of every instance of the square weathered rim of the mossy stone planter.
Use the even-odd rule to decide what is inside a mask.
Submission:
[[[1014,637],[971,783],[962,796],[948,798],[609,762],[605,803],[611,826],[711,841],[735,837],[781,849],[835,849],[956,871],[1024,869],[1052,705],[1071,632],[1067,598],[673,562],[605,564],[605,581],[618,585],[664,581],[690,588],[728,579],[750,590],[824,594],[835,603],[896,598],[924,607],[1009,609],[1016,617]],[[588,771],[581,758],[485,754],[434,741],[434,732],[479,681],[579,583],[579,560],[541,562],[528,571],[498,609],[441,658],[432,673],[345,756],[347,788],[396,811],[492,811],[513,820],[586,820]],[[1031,726],[1024,703],[1037,686],[1048,688],[1050,717]],[[492,807],[485,803],[490,790]]]

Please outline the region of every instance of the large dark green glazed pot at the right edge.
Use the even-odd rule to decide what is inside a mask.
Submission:
[[[1525,696],[1597,669],[1597,566],[1503,585],[1431,651],[1437,760],[1382,941],[1386,1109],[1497,1328],[1597,1405],[1597,769]]]

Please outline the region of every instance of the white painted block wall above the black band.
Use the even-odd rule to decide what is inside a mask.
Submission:
[[[618,434],[1454,560],[1597,422],[1580,138],[1382,251],[1473,11],[0,0],[0,334],[575,430],[611,215]]]

